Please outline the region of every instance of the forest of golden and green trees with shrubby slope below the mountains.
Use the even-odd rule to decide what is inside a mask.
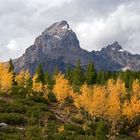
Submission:
[[[1,140],[139,140],[140,72],[67,66],[34,75],[0,63]]]

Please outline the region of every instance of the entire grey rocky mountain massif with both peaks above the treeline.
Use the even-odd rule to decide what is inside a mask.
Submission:
[[[57,22],[48,27],[20,58],[14,60],[14,65],[17,72],[29,69],[33,74],[41,63],[44,71],[48,70],[51,73],[56,66],[61,71],[66,70],[67,64],[74,67],[77,60],[81,61],[83,68],[92,61],[97,70],[140,70],[140,55],[132,55],[123,50],[118,42],[101,51],[83,50],[67,21]]]

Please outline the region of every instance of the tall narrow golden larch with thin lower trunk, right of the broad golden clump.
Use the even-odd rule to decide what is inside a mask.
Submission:
[[[119,82],[118,82],[119,83]],[[116,84],[115,81],[109,80],[107,85],[108,99],[107,99],[107,118],[111,124],[111,134],[116,134],[116,125],[122,117],[122,108],[120,95],[122,95],[123,86]],[[120,83],[121,84],[121,83]]]

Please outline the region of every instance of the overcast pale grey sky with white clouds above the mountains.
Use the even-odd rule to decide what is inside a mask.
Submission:
[[[21,56],[61,20],[68,21],[83,49],[118,41],[140,54],[140,0],[0,0],[0,61]]]

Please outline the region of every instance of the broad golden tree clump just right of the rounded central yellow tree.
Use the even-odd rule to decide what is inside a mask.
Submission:
[[[106,112],[106,89],[104,86],[88,86],[84,84],[81,87],[81,94],[74,99],[76,107],[83,107],[92,116],[104,117]]]

